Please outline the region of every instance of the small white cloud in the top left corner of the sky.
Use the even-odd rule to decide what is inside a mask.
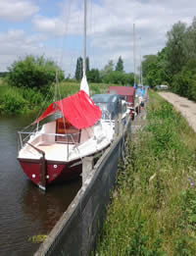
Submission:
[[[1,0],[0,20],[22,22],[39,11],[29,0]]]

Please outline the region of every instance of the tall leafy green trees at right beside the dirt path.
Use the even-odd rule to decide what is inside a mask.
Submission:
[[[196,17],[190,26],[178,22],[167,32],[167,43],[157,55],[142,62],[144,82],[168,84],[174,93],[196,101]]]

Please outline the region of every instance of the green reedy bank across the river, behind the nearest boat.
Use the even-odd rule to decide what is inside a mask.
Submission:
[[[106,92],[109,84],[90,83],[90,95]],[[63,81],[57,89],[58,99],[72,95],[79,90],[79,82]],[[1,79],[0,82],[0,115],[20,115],[44,110],[53,100],[55,85],[45,92],[30,88],[13,87]]]

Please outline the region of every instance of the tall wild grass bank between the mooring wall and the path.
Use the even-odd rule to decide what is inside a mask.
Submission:
[[[196,255],[196,134],[155,92],[119,169],[96,256]]]

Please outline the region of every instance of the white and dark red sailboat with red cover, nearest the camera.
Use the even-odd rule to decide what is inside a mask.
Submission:
[[[85,74],[86,0],[84,0],[83,77],[80,90],[51,103],[32,125],[33,131],[19,131],[18,160],[25,175],[41,189],[57,180],[73,179],[82,172],[82,159],[107,148],[114,135],[110,123],[101,122],[101,111],[89,97]],[[51,115],[54,121],[40,122]]]

